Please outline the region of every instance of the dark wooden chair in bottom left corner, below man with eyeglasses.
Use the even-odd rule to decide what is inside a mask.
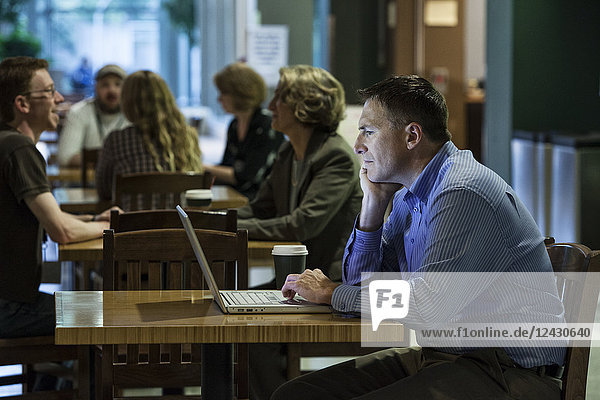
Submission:
[[[35,382],[33,364],[78,360],[78,379],[75,389],[32,392]],[[34,336],[14,339],[0,339],[0,365],[22,365],[22,373],[0,377],[0,386],[22,384],[23,394],[11,397],[18,399],[89,399],[89,357],[82,346],[59,346],[54,344],[54,336]],[[71,375],[72,371],[64,367],[51,371],[38,371],[46,374],[59,373]],[[73,378],[72,376],[69,376]]]

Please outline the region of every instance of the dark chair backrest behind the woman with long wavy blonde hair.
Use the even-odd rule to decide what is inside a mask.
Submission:
[[[209,172],[142,172],[117,175],[113,201],[126,211],[170,209],[179,204],[181,194],[190,189],[210,189]]]

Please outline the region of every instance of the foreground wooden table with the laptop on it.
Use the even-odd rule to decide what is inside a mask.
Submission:
[[[359,318],[336,314],[225,315],[202,290],[80,291],[55,296],[57,344],[203,343],[206,360],[205,355],[222,351],[223,344],[360,342],[371,331]],[[382,326],[389,337],[403,339],[401,325]],[[219,388],[221,395],[233,393],[232,382],[223,378],[230,372],[213,365],[202,368],[203,387]],[[203,399],[210,400],[210,393],[203,391]]]

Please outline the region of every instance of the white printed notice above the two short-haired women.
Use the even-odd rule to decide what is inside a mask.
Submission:
[[[248,64],[269,87],[277,86],[279,68],[288,64],[287,25],[257,25],[248,30]]]

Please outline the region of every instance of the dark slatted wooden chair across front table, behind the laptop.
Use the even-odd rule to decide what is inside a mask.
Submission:
[[[220,288],[248,287],[248,233],[197,229]],[[183,229],[104,231],[104,290],[202,289],[196,257]],[[126,275],[122,281],[120,276]],[[142,282],[142,274],[147,281]],[[97,399],[127,387],[200,386],[200,345],[104,345],[96,352]],[[141,351],[140,351],[141,350]],[[247,359],[247,355],[246,358]],[[239,363],[238,363],[239,365]],[[240,377],[241,371],[246,376]],[[247,369],[237,368],[239,397],[247,397]],[[237,379],[242,378],[242,379]],[[245,386],[244,386],[245,385]]]

